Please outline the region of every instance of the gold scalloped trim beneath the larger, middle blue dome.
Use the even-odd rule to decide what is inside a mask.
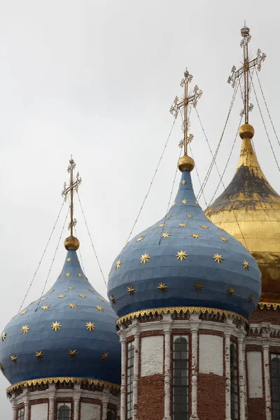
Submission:
[[[197,312],[197,313],[202,312],[202,314],[208,313],[208,314],[214,314],[214,315],[220,314],[220,315],[228,316],[229,318],[237,318],[239,319],[239,321],[244,321],[248,323],[248,320],[244,318],[244,316],[236,314],[235,312],[225,311],[223,309],[205,308],[205,307],[171,307],[171,308],[144,309],[143,311],[132,312],[131,314],[121,316],[120,318],[117,319],[116,323],[118,325],[122,323],[123,321],[128,321],[129,319],[138,318],[139,316],[155,315],[155,314],[174,314],[174,312],[176,312],[176,314],[179,314],[181,311],[184,314],[186,314],[187,312],[189,312],[190,314],[193,314],[194,312]]]

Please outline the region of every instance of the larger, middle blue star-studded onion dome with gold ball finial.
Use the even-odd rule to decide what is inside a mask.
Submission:
[[[183,158],[167,215],[134,237],[113,262],[108,284],[113,309],[122,317],[200,307],[248,318],[260,298],[258,265],[237,239],[206,218],[193,191],[193,160]]]

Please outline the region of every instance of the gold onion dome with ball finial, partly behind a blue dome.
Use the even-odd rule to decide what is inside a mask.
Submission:
[[[237,171],[229,186],[205,211],[211,221],[248,247],[262,273],[260,302],[280,301],[280,196],[269,185],[253,151],[254,130],[240,127]]]

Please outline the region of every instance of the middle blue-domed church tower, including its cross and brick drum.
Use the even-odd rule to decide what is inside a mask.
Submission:
[[[118,254],[108,296],[121,343],[121,420],[244,420],[244,341],[260,299],[258,265],[211,223],[193,190],[188,109],[201,96],[184,73],[181,181],[168,213]],[[238,373],[237,373],[238,372]]]

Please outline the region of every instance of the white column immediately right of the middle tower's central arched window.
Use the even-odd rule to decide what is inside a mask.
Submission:
[[[190,420],[197,420],[197,339],[198,339],[198,328],[200,326],[200,315],[191,314],[190,316],[190,332],[192,334],[192,414]]]

